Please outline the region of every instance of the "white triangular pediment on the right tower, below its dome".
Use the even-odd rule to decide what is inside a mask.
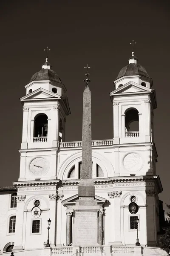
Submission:
[[[124,84],[122,87],[117,88],[113,92],[111,92],[111,95],[119,94],[119,93],[149,93],[152,92],[151,89],[144,87],[140,84],[136,84],[135,82],[128,82],[127,84]]]

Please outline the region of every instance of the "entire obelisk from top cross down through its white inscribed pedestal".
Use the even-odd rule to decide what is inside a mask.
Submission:
[[[92,180],[91,154],[91,91],[89,89],[88,65],[83,93],[82,117],[82,175],[78,187],[78,201],[74,207],[73,245],[98,244],[99,206],[95,201],[95,187]]]

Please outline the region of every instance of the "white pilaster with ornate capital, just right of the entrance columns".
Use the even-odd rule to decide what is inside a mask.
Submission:
[[[120,196],[122,191],[108,192],[110,198],[114,198],[114,243],[121,245],[121,215],[120,215]]]

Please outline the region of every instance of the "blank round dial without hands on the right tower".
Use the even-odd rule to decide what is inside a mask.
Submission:
[[[136,153],[129,153],[123,159],[123,165],[129,172],[137,172],[142,168],[142,157]]]

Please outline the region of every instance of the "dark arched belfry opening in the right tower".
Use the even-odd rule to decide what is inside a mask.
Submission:
[[[136,108],[128,109],[125,112],[125,131],[135,131],[139,134],[139,115]]]

